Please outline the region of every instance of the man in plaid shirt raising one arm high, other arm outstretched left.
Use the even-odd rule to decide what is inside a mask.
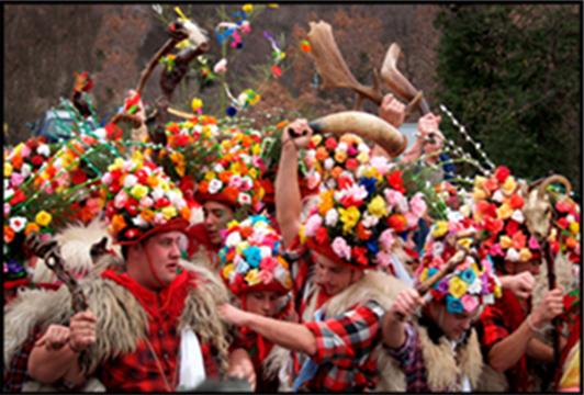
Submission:
[[[297,137],[292,138],[290,129]],[[407,227],[406,213],[397,215],[393,207],[388,208],[384,193],[403,198],[400,206],[412,216],[407,223],[417,223],[417,217],[409,212],[401,192],[389,185],[373,188],[377,181],[382,183],[375,169],[364,176],[379,176],[375,182],[368,183],[370,189],[346,179],[340,181],[339,191],[325,190],[301,224],[296,163],[299,149],[306,147],[312,129],[304,120],[293,122],[290,129],[282,133],[276,200],[284,246],[297,249],[296,255],[303,258],[294,262],[300,267],[294,271],[294,287],[300,294],[296,302],[301,324],[279,321],[231,305],[222,306],[222,314],[235,325],[250,327],[295,351],[300,359],[294,359],[292,369],[294,390],[373,390],[380,379],[381,319],[392,303],[392,294],[405,287],[395,278],[372,270],[388,264],[394,230],[386,224]],[[361,224],[361,218],[366,224]]]

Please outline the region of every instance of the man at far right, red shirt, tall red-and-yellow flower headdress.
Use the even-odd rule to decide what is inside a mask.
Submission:
[[[499,275],[537,276],[542,249],[526,226],[520,184],[509,169],[499,166],[488,178],[476,177],[473,199],[473,216],[485,235],[481,256],[494,262]],[[539,390],[542,373],[536,371],[553,360],[553,351],[537,335],[562,313],[562,290],[547,292],[534,307],[530,298],[531,290],[525,295],[503,290],[502,297],[481,316],[478,329],[490,376],[482,382],[497,383],[485,390]]]

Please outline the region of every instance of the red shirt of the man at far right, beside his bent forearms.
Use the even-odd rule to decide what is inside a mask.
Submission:
[[[529,303],[527,305],[529,306]],[[502,297],[497,298],[495,304],[485,307],[478,326],[485,360],[493,346],[517,330],[527,318],[527,314],[529,312],[521,307],[517,296],[505,289]],[[525,354],[513,368],[505,372],[505,375],[507,376],[510,392],[534,390],[527,371],[527,358]]]

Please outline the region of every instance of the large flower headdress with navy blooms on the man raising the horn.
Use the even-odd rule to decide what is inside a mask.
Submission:
[[[422,193],[405,193],[402,171],[373,158],[358,179],[339,178],[337,191],[321,192],[301,242],[353,268],[389,267],[395,238],[415,228],[427,208]]]

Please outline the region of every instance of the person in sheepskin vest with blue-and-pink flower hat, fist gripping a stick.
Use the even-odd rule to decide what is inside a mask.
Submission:
[[[470,218],[451,221],[446,228],[433,226],[416,284],[442,269],[454,256],[457,244],[470,247],[471,239],[457,241],[456,237],[472,227]],[[420,297],[416,289],[396,296],[383,318],[385,391],[469,392],[476,386],[483,361],[472,321],[484,305],[494,302],[501,287],[488,262],[479,263],[475,257],[471,249],[453,272],[431,287],[428,297]]]

